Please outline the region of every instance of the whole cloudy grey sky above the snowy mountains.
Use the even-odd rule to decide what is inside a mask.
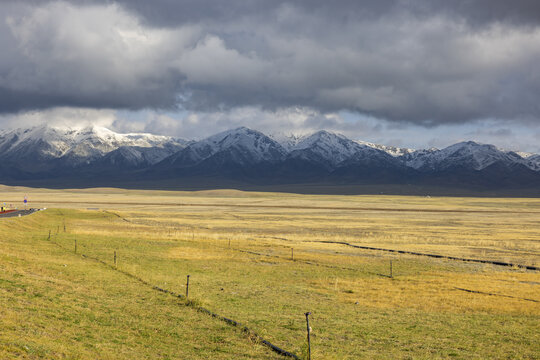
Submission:
[[[0,0],[0,128],[540,152],[537,0]]]

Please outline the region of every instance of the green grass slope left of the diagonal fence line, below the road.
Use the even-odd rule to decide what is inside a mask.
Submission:
[[[49,212],[0,225],[0,358],[276,358],[183,302],[47,242],[39,229],[57,220]]]

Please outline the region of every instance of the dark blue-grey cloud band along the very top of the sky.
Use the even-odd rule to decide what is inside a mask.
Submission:
[[[38,3],[37,0],[30,1]],[[41,1],[43,2],[43,1]],[[110,0],[75,0],[72,3],[110,4]],[[190,21],[224,21],[242,16],[271,16],[280,6],[293,6],[303,13],[316,13],[326,22],[343,22],[384,17],[391,12],[412,12],[417,16],[447,13],[470,24],[511,22],[537,25],[537,0],[119,0],[152,25],[173,26]]]

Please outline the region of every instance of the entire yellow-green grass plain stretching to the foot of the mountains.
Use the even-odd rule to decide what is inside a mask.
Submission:
[[[48,209],[0,219],[0,358],[281,358],[197,306],[298,356],[310,311],[313,359],[540,358],[538,271],[328,243],[538,267],[539,199],[0,187],[24,194]],[[115,251],[191,306],[81,256]]]

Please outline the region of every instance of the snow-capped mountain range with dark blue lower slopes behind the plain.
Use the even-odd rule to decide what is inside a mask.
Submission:
[[[351,140],[324,130],[303,136],[267,136],[240,127],[200,141],[118,134],[96,126],[42,125],[0,132],[0,181],[6,184],[161,183],[182,188],[182,184],[203,184],[209,179],[214,184],[233,181],[258,186],[539,189],[540,155],[473,141],[412,150]]]

